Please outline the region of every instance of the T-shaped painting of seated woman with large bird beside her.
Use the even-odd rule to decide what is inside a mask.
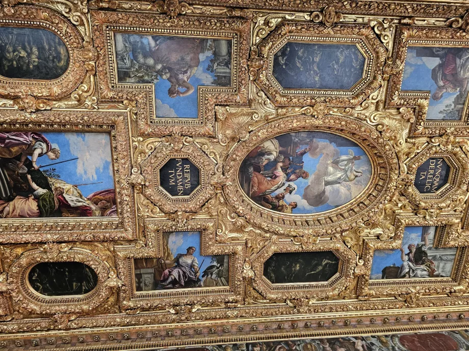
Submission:
[[[137,291],[228,286],[229,256],[200,254],[200,232],[163,233],[163,255],[136,258]]]

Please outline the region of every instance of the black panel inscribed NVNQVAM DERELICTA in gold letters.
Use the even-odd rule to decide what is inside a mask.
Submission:
[[[417,169],[414,185],[422,194],[436,193],[448,183],[451,167],[441,157],[432,157]]]

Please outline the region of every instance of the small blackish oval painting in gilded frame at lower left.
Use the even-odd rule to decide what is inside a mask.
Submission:
[[[45,296],[84,295],[96,287],[98,276],[82,262],[41,262],[31,269],[28,281]]]

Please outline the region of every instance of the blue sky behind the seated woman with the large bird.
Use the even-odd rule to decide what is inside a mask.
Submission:
[[[202,272],[205,268],[209,267],[212,263],[212,256],[202,256],[200,254],[200,232],[199,231],[173,231],[165,233],[169,249],[174,257],[178,253],[185,254],[189,246],[195,247],[194,256],[199,262],[200,279],[202,279]],[[203,261],[203,264],[202,264]]]

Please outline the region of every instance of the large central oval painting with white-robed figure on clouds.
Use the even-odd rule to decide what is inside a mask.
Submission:
[[[288,214],[329,211],[360,194],[372,174],[357,143],[333,133],[282,134],[243,160],[239,181],[259,206]]]

